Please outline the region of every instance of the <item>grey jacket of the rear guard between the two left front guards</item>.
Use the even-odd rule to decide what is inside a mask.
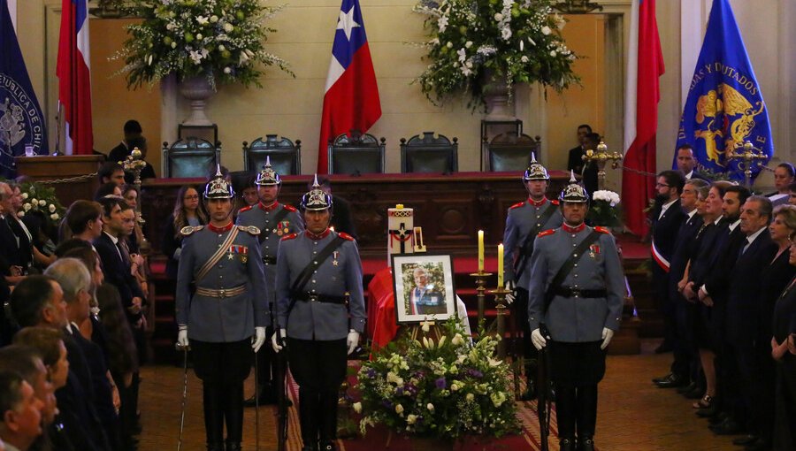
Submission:
[[[280,210],[287,210],[287,214],[278,222],[274,218]],[[271,207],[266,207],[263,203],[244,207],[238,212],[239,226],[256,226],[260,229],[257,241],[260,241],[260,254],[263,256],[263,268],[265,272],[265,283],[271,288],[268,290],[266,301],[272,305],[273,286],[276,281],[276,257],[279,250],[279,241],[283,236],[290,233],[299,233],[304,230],[302,218],[296,212],[295,207],[284,203],[274,203]]]

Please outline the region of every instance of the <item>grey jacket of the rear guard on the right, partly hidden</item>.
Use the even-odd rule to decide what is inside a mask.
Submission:
[[[545,224],[537,226],[542,214],[548,208],[555,209]],[[503,232],[503,274],[506,280],[511,280],[517,287],[528,289],[528,280],[531,279],[531,256],[526,256],[524,260],[525,269],[517,280],[514,265],[521,257],[522,246],[525,237],[528,236],[532,228],[536,228],[537,233],[543,230],[555,229],[563,223],[561,209],[558,201],[549,201],[547,198],[541,203],[535,203],[532,199],[516,203],[509,208],[506,217],[506,230]],[[534,239],[535,240],[535,239]],[[519,268],[517,268],[519,270]]]

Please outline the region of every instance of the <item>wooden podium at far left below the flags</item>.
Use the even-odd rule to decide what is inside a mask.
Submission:
[[[66,208],[78,199],[93,199],[99,180],[96,171],[105,162],[102,155],[69,155],[52,157],[14,157],[17,173],[33,181],[60,180],[95,174],[93,177],[56,183],[58,201]]]

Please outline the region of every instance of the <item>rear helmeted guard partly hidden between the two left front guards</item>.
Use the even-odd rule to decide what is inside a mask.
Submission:
[[[266,158],[263,170],[257,174],[255,180],[259,202],[239,210],[237,219],[238,226],[256,226],[260,229],[257,240],[260,241],[260,253],[263,256],[265,284],[268,286],[265,300],[268,302],[269,310],[273,310],[273,288],[276,280],[276,256],[279,240],[287,234],[299,233],[304,230],[302,218],[299,217],[295,207],[287,203],[279,203],[277,197],[281,184],[279,173],[274,171],[271,166],[271,158]],[[272,334],[273,329],[269,326],[266,336]],[[262,352],[256,353],[256,359],[256,390],[251,398],[243,402],[246,407],[255,407],[257,403],[275,403],[277,389],[279,389],[279,384],[274,383],[277,371],[272,348],[266,347]],[[259,394],[259,400],[255,399],[257,394]]]

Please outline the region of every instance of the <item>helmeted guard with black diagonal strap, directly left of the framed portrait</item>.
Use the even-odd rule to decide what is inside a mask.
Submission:
[[[356,241],[329,228],[332,196],[318,186],[302,197],[303,233],[282,238],[277,256],[276,312],[279,352],[299,386],[302,451],[337,449],[337,398],[347,355],[364,331],[362,262]]]

